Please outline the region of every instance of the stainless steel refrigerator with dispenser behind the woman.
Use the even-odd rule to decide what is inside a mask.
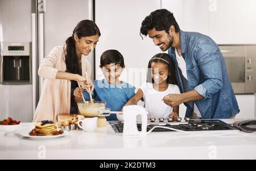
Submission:
[[[38,76],[40,62],[54,46],[64,45],[76,24],[84,19],[93,20],[93,0],[0,0],[1,72],[6,63],[3,60],[5,46],[19,45],[9,48],[15,52],[16,47],[28,44],[30,52],[30,82],[0,84],[0,119],[13,117],[22,122],[32,121],[43,84]],[[7,52],[13,53],[8,48]],[[19,58],[23,59],[22,55]],[[93,53],[88,60],[94,66]],[[16,67],[19,61],[13,61],[10,66]]]

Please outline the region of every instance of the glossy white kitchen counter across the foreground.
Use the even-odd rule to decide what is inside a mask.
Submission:
[[[233,123],[237,119],[222,119]],[[30,131],[32,123],[21,123]],[[227,131],[226,131],[227,132]],[[228,131],[230,132],[230,131]],[[231,135],[236,134],[241,135]],[[199,134],[208,134],[199,136]],[[94,132],[69,131],[49,140],[0,135],[0,159],[256,159],[256,134],[232,131],[151,132],[147,136],[123,137],[108,125]]]

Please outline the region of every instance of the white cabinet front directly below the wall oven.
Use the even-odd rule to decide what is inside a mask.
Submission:
[[[255,118],[255,95],[236,95],[240,113],[236,118]]]

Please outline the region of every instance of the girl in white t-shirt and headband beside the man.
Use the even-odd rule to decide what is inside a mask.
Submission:
[[[142,98],[148,111],[148,118],[167,118],[174,120],[179,116],[179,106],[171,108],[164,104],[163,97],[172,93],[180,93],[176,85],[174,65],[166,53],[154,55],[148,62],[147,82],[139,87],[138,92],[126,105],[137,104]]]

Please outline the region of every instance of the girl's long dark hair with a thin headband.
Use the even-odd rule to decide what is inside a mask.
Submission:
[[[160,58],[160,59],[159,59]],[[168,63],[167,63],[167,62]],[[147,72],[147,82],[148,83],[154,83],[154,79],[151,76],[151,63],[152,62],[161,62],[164,63],[165,65],[168,66],[168,71],[170,72],[171,75],[168,75],[167,77],[167,83],[168,84],[177,84],[177,79],[176,79],[176,72],[174,69],[174,63],[172,63],[171,57],[167,53],[158,53],[154,55],[148,62],[148,72]]]

